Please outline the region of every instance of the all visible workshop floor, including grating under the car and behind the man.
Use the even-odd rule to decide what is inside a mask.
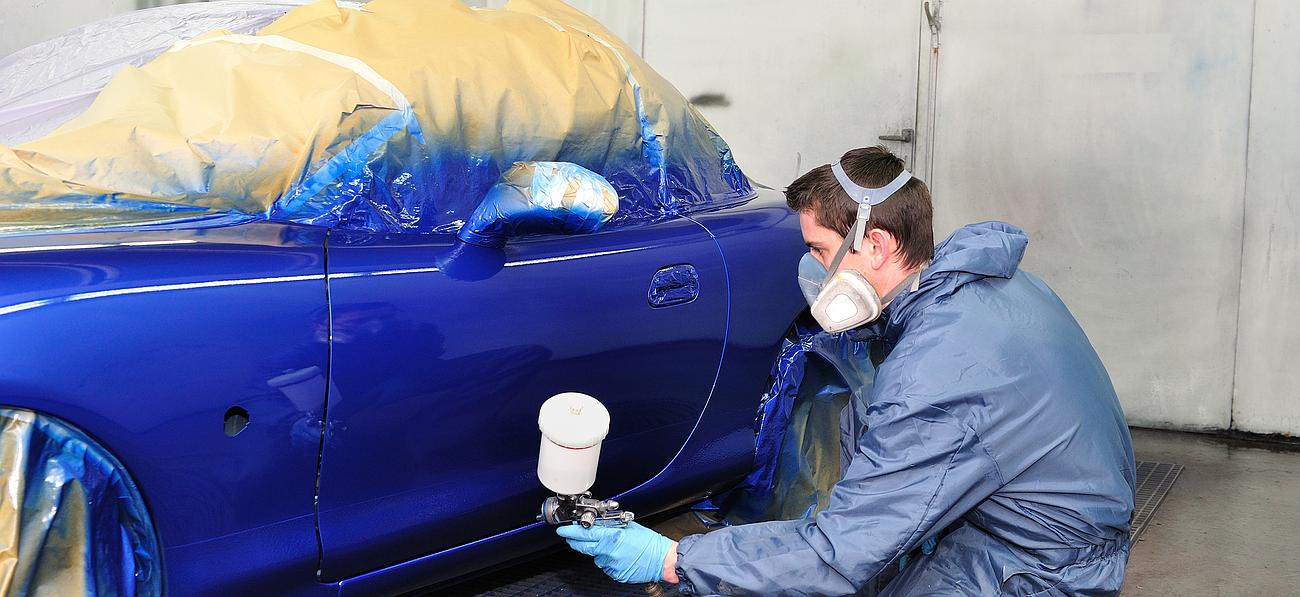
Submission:
[[[1132,436],[1139,460],[1138,542],[1128,557],[1124,597],[1295,594],[1300,587],[1300,550],[1295,548],[1300,541],[1300,451],[1195,433],[1134,429]],[[673,538],[703,531],[690,514],[655,528]],[[590,558],[556,550],[438,594],[677,593],[620,585]]]

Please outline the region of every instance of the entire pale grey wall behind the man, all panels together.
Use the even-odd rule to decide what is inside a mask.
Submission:
[[[933,99],[920,5],[646,0],[640,34],[774,186],[916,124],[936,233],[1023,226],[1132,423],[1300,433],[1300,3],[946,1]]]

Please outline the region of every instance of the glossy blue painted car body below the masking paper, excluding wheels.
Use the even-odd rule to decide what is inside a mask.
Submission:
[[[558,544],[552,394],[608,407],[593,490],[638,514],[744,476],[802,251],[770,190],[499,254],[276,222],[5,237],[0,403],[122,462],[170,594],[402,593]],[[692,295],[651,304],[684,265]]]

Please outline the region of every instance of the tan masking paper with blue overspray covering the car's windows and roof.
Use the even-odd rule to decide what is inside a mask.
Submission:
[[[751,192],[685,98],[559,0],[326,0],[122,68],[78,117],[0,147],[0,233],[211,217],[450,232],[516,161],[603,176],[615,224]]]

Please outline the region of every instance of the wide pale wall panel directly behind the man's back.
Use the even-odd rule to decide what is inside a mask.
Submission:
[[[936,235],[1030,234],[1130,421],[1231,420],[1252,7],[944,4]]]

